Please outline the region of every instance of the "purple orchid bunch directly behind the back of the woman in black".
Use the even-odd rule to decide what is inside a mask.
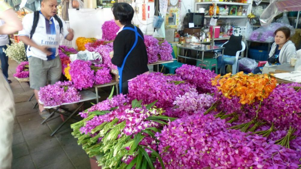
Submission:
[[[160,45],[158,43],[158,39],[154,38],[152,35],[144,36],[144,44],[147,51],[148,63],[154,63],[159,60],[158,54],[160,51]]]

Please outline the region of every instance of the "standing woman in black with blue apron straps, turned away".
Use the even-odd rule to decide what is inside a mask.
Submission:
[[[127,94],[128,80],[149,71],[147,51],[141,30],[132,25],[132,6],[128,3],[114,3],[112,11],[120,29],[113,43],[111,61],[118,68],[120,93]]]

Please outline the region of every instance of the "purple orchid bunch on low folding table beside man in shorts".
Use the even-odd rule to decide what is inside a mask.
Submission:
[[[44,106],[57,106],[62,103],[73,103],[80,100],[80,95],[71,81],[58,81],[48,84],[39,91],[39,99]]]

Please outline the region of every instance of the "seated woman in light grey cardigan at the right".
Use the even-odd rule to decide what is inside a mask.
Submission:
[[[265,66],[274,64],[290,63],[291,56],[296,52],[295,44],[290,41],[290,29],[280,27],[275,31],[275,43],[273,43],[269,53],[268,62]]]

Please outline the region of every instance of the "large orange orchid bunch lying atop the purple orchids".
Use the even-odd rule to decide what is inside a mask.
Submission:
[[[277,82],[272,75],[238,72],[235,75],[217,75],[211,83],[217,86],[225,97],[231,99],[237,96],[240,98],[239,103],[244,105],[267,98]]]

